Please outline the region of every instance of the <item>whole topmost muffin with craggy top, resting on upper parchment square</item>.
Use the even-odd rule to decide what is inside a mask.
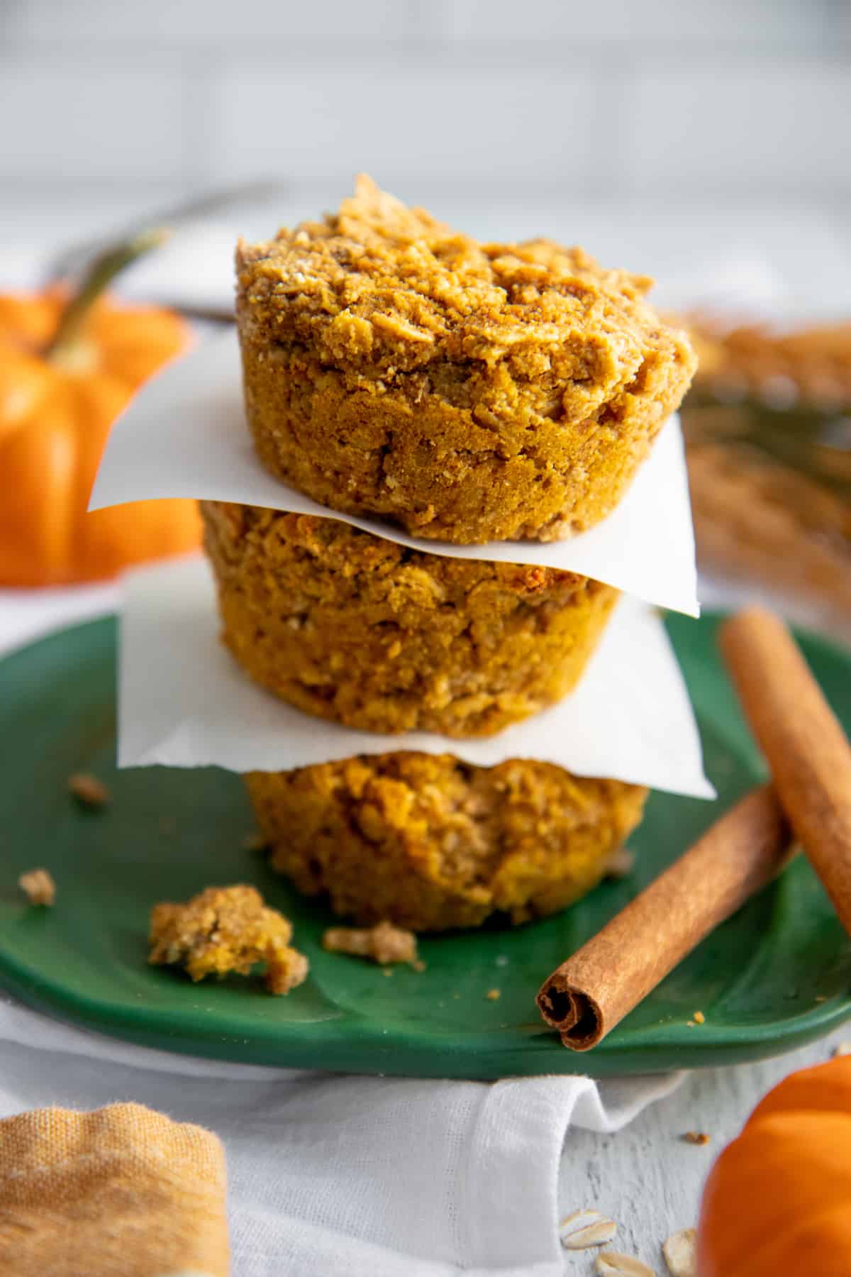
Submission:
[[[237,248],[245,401],[273,474],[458,544],[609,515],[695,368],[651,281],[551,240],[478,244],[360,178]]]

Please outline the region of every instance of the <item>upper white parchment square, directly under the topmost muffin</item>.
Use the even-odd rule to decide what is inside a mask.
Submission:
[[[227,332],[175,360],[131,401],[110,434],[89,508],[159,497],[233,501],[341,518],[413,549],[582,572],[647,603],[699,614],[692,508],[676,418],[662,429],[618,508],[589,531],[546,545],[429,541],[378,518],[328,510],[267,474],[245,423],[236,335]]]

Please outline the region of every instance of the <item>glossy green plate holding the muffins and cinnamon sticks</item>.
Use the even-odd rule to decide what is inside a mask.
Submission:
[[[112,619],[54,635],[0,661],[0,982],[68,1020],[145,1046],[253,1064],[425,1077],[640,1073],[785,1051],[851,1015],[851,941],[804,859],[706,940],[588,1055],[545,1031],[544,977],[762,775],[714,650],[717,618],[670,619],[718,803],[653,794],[633,838],[635,875],[526,927],[424,940],[427,969],[390,977],[327,954],[332,921],[242,849],[253,829],[223,771],[116,773]],[[804,636],[846,727],[851,658]],[[78,810],[65,782],[91,770],[114,802]],[[46,866],[54,909],[27,907],[18,873]],[[209,884],[254,882],[295,922],[310,978],[288,997],[240,977],[191,985],[145,965],[151,905]],[[489,990],[499,988],[498,1001]],[[706,1024],[689,1028],[695,1010]]]

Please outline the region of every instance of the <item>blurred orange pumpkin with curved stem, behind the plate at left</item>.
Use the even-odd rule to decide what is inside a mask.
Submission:
[[[177,315],[102,295],[161,239],[106,254],[70,301],[56,289],[0,296],[0,585],[94,581],[200,541],[191,501],[85,511],[110,427],[189,342]]]

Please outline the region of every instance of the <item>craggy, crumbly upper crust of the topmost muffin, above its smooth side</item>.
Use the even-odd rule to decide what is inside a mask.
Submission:
[[[366,176],[338,213],[241,241],[236,261],[250,323],[373,377],[504,365],[514,381],[573,386],[572,412],[628,388],[648,358],[683,363],[684,377],[693,364],[643,300],[651,280],[552,240],[480,244]]]

